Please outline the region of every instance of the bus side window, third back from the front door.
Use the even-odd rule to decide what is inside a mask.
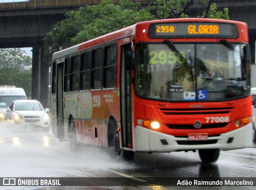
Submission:
[[[88,51],[82,54],[81,57],[81,73],[80,73],[80,88],[81,90],[90,90],[92,57]]]

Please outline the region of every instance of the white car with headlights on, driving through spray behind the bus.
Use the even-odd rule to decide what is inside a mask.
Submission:
[[[14,100],[6,110],[5,120],[14,121],[15,126],[49,131],[48,112],[37,100]]]

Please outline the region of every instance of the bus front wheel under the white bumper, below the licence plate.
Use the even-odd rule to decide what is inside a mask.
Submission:
[[[198,150],[198,153],[203,163],[214,163],[219,158],[220,149],[202,149]]]

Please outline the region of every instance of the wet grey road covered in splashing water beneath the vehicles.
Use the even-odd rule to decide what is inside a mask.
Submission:
[[[111,150],[98,147],[84,148],[80,153],[70,151],[69,142],[59,142],[51,133],[40,130],[12,130],[0,127],[0,177],[123,177],[129,186],[15,186],[18,190],[84,190],[84,189],[204,189],[204,186],[158,186],[159,178],[181,177],[255,177],[256,149],[221,151],[218,161],[203,165],[198,153],[135,153],[133,163],[117,163]],[[122,179],[123,179],[122,178]],[[116,178],[111,178],[116,179]],[[111,182],[111,181],[110,181]],[[134,186],[145,182],[144,186]],[[97,181],[94,181],[97,184]],[[160,183],[161,184],[161,183]],[[164,184],[164,183],[163,183]],[[226,186],[208,187],[226,189]],[[246,187],[254,189],[255,186]],[[14,189],[2,186],[0,189]],[[233,186],[232,189],[241,189]]]

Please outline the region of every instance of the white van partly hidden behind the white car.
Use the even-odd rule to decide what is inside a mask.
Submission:
[[[13,100],[26,100],[27,96],[23,88],[10,85],[0,85],[0,108],[6,112]]]

